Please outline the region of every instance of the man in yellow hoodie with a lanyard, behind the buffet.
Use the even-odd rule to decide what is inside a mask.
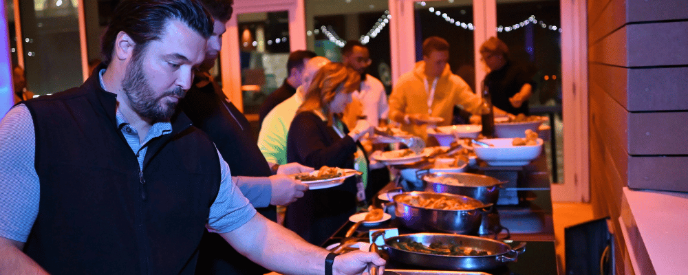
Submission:
[[[427,139],[429,117],[444,121],[438,126],[451,124],[454,105],[480,115],[481,98],[471,87],[449,69],[449,43],[431,36],[423,41],[423,60],[413,71],[402,74],[389,95],[389,118],[399,122],[403,131]],[[495,108],[495,114],[505,113]],[[471,119],[473,120],[473,119]]]

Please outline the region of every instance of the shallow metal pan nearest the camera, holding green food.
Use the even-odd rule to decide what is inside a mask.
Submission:
[[[455,243],[477,250],[491,252],[488,256],[445,256],[400,250],[390,246],[398,241],[416,241],[423,245],[430,245],[435,241]],[[501,241],[481,238],[478,236],[464,236],[440,233],[403,234],[385,240],[385,249],[389,258],[400,263],[409,263],[422,267],[444,270],[491,270],[502,267],[508,262],[516,261],[519,254],[526,251],[526,243],[518,243],[515,248]]]

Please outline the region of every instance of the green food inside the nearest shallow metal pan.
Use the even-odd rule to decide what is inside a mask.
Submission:
[[[486,250],[469,248],[456,243],[442,243],[441,241],[435,241],[426,246],[417,241],[397,240],[389,245],[399,250],[444,256],[488,256],[493,254]]]

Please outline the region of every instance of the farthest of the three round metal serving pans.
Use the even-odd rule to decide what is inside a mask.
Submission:
[[[471,173],[427,173],[421,179],[426,191],[468,196],[482,203],[497,203],[499,188],[504,185],[494,177]]]

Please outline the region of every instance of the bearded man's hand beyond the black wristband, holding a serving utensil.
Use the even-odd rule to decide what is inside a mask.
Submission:
[[[354,275],[367,274],[368,263],[373,263],[379,266],[378,274],[382,275],[385,272],[384,259],[374,252],[354,251],[347,254],[342,254],[334,258],[334,265],[332,265],[332,274],[338,275]]]

